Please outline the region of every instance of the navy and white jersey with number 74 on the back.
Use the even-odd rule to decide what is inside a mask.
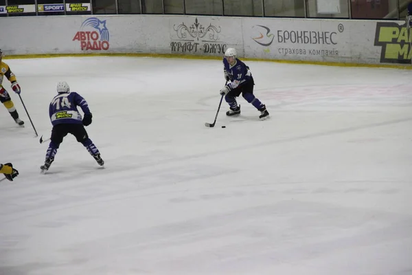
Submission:
[[[49,116],[53,126],[61,123],[82,124],[82,115],[78,112],[78,106],[84,114],[90,113],[87,101],[76,92],[55,96],[49,106]]]

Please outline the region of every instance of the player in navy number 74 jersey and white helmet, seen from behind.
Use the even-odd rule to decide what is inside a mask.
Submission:
[[[62,81],[57,85],[58,95],[55,96],[49,106],[49,116],[53,124],[52,137],[50,137],[49,148],[47,148],[45,164],[40,168],[44,173],[49,170],[50,164],[54,161],[57,149],[68,133],[76,137],[76,140],[87,148],[87,151],[94,157],[100,166],[104,165],[100,152],[95,144],[90,140],[84,126],[91,124],[91,112],[87,101],[76,92],[70,92],[69,85]],[[84,118],[78,112],[80,107],[84,113]]]

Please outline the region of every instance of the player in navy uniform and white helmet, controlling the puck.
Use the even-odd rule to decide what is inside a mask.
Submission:
[[[259,118],[261,120],[268,118],[269,113],[266,106],[253,95],[255,82],[249,67],[236,58],[236,50],[231,47],[226,50],[223,58],[223,72],[225,79],[229,82],[220,90],[220,95],[225,96],[225,100],[229,104],[229,111],[226,112],[226,115],[240,114],[240,105],[236,102],[236,98],[242,94],[247,102],[260,111]]]

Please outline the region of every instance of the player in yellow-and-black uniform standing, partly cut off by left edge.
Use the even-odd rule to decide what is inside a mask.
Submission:
[[[19,124],[23,125],[24,122],[19,118],[19,113],[17,113],[16,108],[14,107],[14,103],[12,102],[12,98],[8,94],[2,85],[4,76],[12,83],[12,89],[16,94],[20,94],[20,85],[17,83],[16,76],[10,70],[7,64],[1,61],[4,54],[1,52],[0,49],[0,102],[3,103],[4,107],[9,111],[10,115],[14,121]]]

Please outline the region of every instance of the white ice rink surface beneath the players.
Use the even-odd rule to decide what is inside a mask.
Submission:
[[[1,275],[412,274],[412,78],[399,69],[246,62],[227,118],[221,61],[3,60],[39,136],[66,80],[89,102],[102,169],[67,136],[46,175],[0,107]],[[222,129],[221,126],[226,128]]]

